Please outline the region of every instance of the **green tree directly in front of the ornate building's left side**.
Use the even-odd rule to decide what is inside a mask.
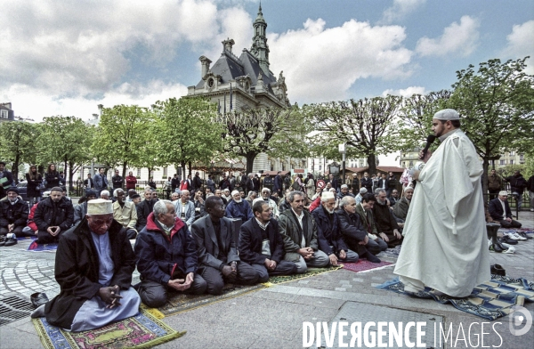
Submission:
[[[209,163],[223,150],[223,126],[214,123],[217,105],[202,98],[169,98],[157,101],[157,157],[166,164],[182,167],[187,163]],[[191,166],[190,166],[191,172]]]

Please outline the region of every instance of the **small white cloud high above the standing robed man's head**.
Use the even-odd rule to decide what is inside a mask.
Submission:
[[[444,56],[456,53],[468,56],[473,53],[479,39],[480,20],[463,16],[460,23],[453,22],[443,29],[438,38],[422,37],[417,41],[416,52],[422,56]]]

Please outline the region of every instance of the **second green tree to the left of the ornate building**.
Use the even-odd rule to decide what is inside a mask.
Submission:
[[[128,165],[142,163],[147,144],[156,146],[156,138],[150,134],[153,121],[153,113],[137,105],[104,108],[93,140],[94,156],[109,166],[122,166],[125,178]]]

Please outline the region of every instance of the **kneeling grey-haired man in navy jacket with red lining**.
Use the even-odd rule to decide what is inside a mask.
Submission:
[[[147,219],[146,227],[135,241],[137,270],[141,283],[137,288],[142,303],[152,308],[166,304],[168,293],[199,295],[206,292],[206,280],[197,274],[195,240],[174,205],[159,200]]]

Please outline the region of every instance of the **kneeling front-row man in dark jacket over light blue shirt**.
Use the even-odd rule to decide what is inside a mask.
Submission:
[[[291,275],[296,264],[284,261],[284,240],[279,224],[271,218],[271,205],[263,200],[252,207],[255,218],[241,225],[239,232],[239,257],[252,265],[259,273],[259,282],[267,282],[269,275]]]

